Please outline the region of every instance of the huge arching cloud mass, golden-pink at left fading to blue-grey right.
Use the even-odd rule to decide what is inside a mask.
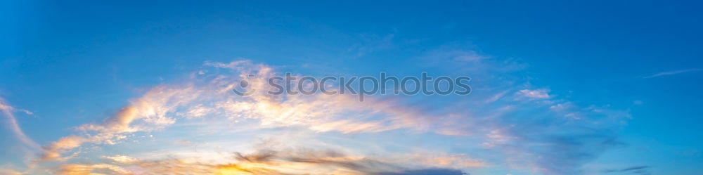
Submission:
[[[453,56],[458,53],[470,52],[446,53],[440,57],[449,56],[449,61],[454,62],[457,60]],[[515,71],[503,68],[491,70],[494,69],[491,67],[499,67],[496,66],[497,63],[491,63],[492,60],[462,60],[468,63],[461,66],[492,65],[480,67],[485,72],[501,72],[499,76],[508,76],[503,75],[503,71]],[[382,157],[392,157],[393,160],[368,156],[369,153],[364,154],[358,150],[352,151],[356,153],[353,156],[319,150],[276,150],[250,155],[233,154],[229,159],[212,162],[148,160],[138,156],[136,162],[119,162],[112,159],[118,158],[115,156],[103,158],[113,160],[114,166],[136,174],[165,174],[172,171],[193,174],[408,174],[430,171],[453,174],[458,172],[457,169],[489,165],[527,169],[540,174],[580,174],[581,165],[621,144],[613,131],[629,117],[626,112],[607,107],[580,107],[549,94],[549,89],[545,88],[512,89],[514,86],[529,84],[520,82],[515,77],[496,77],[496,82],[477,84],[477,91],[481,93],[472,93],[471,101],[457,101],[437,108],[432,108],[431,102],[427,102],[423,103],[427,108],[417,108],[417,105],[402,103],[399,100],[402,98],[370,97],[362,103],[356,96],[345,95],[272,96],[265,93],[271,88],[267,86],[266,79],[276,75],[275,70],[250,60],[207,62],[202,69],[206,71],[198,70],[198,73],[193,73],[181,84],[164,84],[150,89],[143,96],[132,99],[129,105],[104,122],[76,127],[81,134],[66,136],[46,145],[42,160],[67,161],[79,152],[75,150],[87,144],[119,144],[138,132],[160,131],[176,122],[221,118],[233,123],[246,121],[242,125],[232,125],[232,128],[295,128],[319,135],[342,136],[399,134],[400,136],[389,137],[384,141],[359,143],[390,148],[403,144],[396,142],[403,141],[406,135],[432,134],[430,136],[438,139],[456,141],[455,145],[480,148],[480,153],[501,155],[503,160],[486,162],[480,156],[444,152],[451,148],[432,148],[436,150],[417,155],[408,154],[416,146],[412,144],[404,145],[410,147],[406,151],[380,153]],[[249,74],[256,76],[250,77]],[[247,80],[250,87],[257,91],[251,96],[233,95],[231,89],[243,80]],[[505,94],[515,94],[520,98],[503,98]],[[207,128],[214,124],[202,122],[202,125]],[[173,140],[168,143],[174,145]],[[198,140],[198,143],[201,141]],[[196,145],[198,144],[181,146]],[[344,148],[344,145],[330,142],[320,145]],[[353,145],[345,149],[354,150],[352,147]],[[463,147],[455,150],[462,149]],[[94,167],[95,164],[71,164],[74,164],[73,167],[65,169],[117,171],[105,168],[104,165]],[[312,170],[304,171],[309,169]]]

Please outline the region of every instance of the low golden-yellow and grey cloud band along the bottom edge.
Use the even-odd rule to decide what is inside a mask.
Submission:
[[[112,157],[123,160],[124,157]],[[228,160],[209,163],[206,160],[136,160],[115,161],[116,164],[64,164],[57,174],[463,174],[458,169],[405,167],[372,157],[355,157],[333,150],[268,150],[254,153],[232,153]]]

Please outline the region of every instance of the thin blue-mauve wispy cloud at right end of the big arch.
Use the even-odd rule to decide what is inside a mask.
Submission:
[[[504,155],[498,166],[523,169],[526,174],[583,174],[583,164],[624,144],[617,140],[615,131],[631,118],[628,112],[607,105],[583,107],[557,98],[546,88],[515,90],[535,86],[524,77],[525,64],[510,59],[457,63],[446,56],[446,52],[458,49],[462,48],[441,47],[420,60],[437,58],[433,65],[475,77],[472,100],[455,102],[460,105],[449,111],[463,120],[446,127],[477,134],[461,136],[478,138],[489,152]],[[503,98],[507,92],[515,98]]]

